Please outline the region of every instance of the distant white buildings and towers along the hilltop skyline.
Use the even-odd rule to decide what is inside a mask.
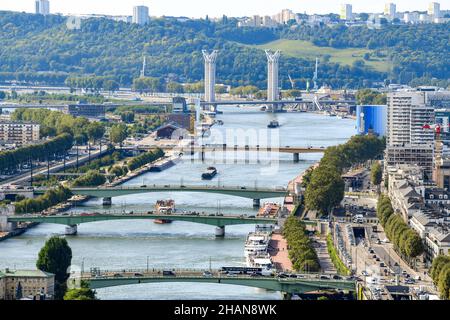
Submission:
[[[36,14],[48,15],[50,11],[49,0],[36,0]],[[380,8],[381,9],[381,8]],[[272,16],[254,15],[252,17],[238,17],[239,27],[253,28],[275,28],[279,25],[287,24],[341,24],[349,26],[372,25],[373,27],[382,27],[386,24],[420,24],[420,23],[447,23],[450,21],[450,10],[441,10],[439,2],[430,2],[427,10],[412,10],[406,12],[397,11],[395,3],[386,3],[383,12],[361,12],[353,11],[351,4],[342,4],[338,9],[339,14],[312,14],[295,13],[290,9],[283,9],[281,12]],[[102,14],[82,14],[74,15],[79,18],[106,18],[114,21],[126,23],[136,23],[145,25],[150,21],[150,9],[147,6],[133,7],[133,15],[102,15]],[[165,16],[164,16],[165,17]],[[225,17],[225,16],[224,16]],[[168,17],[167,17],[168,18]],[[190,20],[188,17],[175,17],[177,20]],[[223,18],[211,18],[212,21],[220,21]]]

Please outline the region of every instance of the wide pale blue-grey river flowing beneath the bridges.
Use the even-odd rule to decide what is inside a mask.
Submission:
[[[223,108],[209,141],[228,145],[331,146],[345,142],[355,133],[355,122],[311,113],[267,114],[255,108]],[[267,129],[273,119],[279,129]],[[246,139],[245,137],[250,137]],[[224,140],[222,140],[224,139]],[[256,140],[255,140],[256,139]],[[227,154],[202,163],[183,156],[183,161],[160,173],[147,173],[127,185],[205,184],[201,173],[210,165],[218,175],[209,184],[225,186],[276,187],[287,183],[319,160],[320,154],[292,155]],[[246,160],[247,159],[247,160]],[[113,199],[109,210],[152,210],[158,199],[174,199],[178,210],[223,214],[255,214],[252,200],[209,193],[150,193]],[[266,199],[277,201],[282,199]],[[93,199],[73,211],[105,210],[100,199]],[[230,226],[224,239],[216,239],[214,227],[187,222],[158,225],[152,221],[108,221],[78,226],[76,236],[68,236],[73,265],[101,269],[197,268],[243,266],[244,241],[254,226]],[[52,234],[64,234],[60,225],[41,224],[20,237],[0,242],[0,269],[34,269],[37,254]],[[113,287],[97,290],[100,299],[280,299],[278,292],[219,284],[159,283]]]

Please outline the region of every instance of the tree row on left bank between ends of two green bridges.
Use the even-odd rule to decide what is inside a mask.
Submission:
[[[72,196],[69,189],[59,186],[46,191],[42,196],[34,199],[23,199],[15,203],[16,214],[37,213],[46,210],[58,203],[66,201]]]

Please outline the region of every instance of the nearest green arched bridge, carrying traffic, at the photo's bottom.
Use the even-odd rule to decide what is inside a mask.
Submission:
[[[143,271],[106,271],[100,273],[81,273],[79,277],[71,276],[68,286],[79,286],[80,280],[85,281],[91,289],[101,289],[114,286],[124,286],[143,283],[216,283],[247,286],[266,290],[279,291],[288,295],[320,290],[355,291],[354,281],[322,279],[319,274],[296,275],[296,278],[277,276],[226,275],[219,271],[211,271],[204,275],[198,270],[175,270],[172,276],[163,276],[162,270]]]

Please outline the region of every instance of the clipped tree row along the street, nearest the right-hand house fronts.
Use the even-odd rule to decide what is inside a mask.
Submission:
[[[423,253],[424,246],[419,234],[411,229],[400,215],[394,213],[388,196],[380,195],[377,216],[386,236],[403,257],[410,260]]]

